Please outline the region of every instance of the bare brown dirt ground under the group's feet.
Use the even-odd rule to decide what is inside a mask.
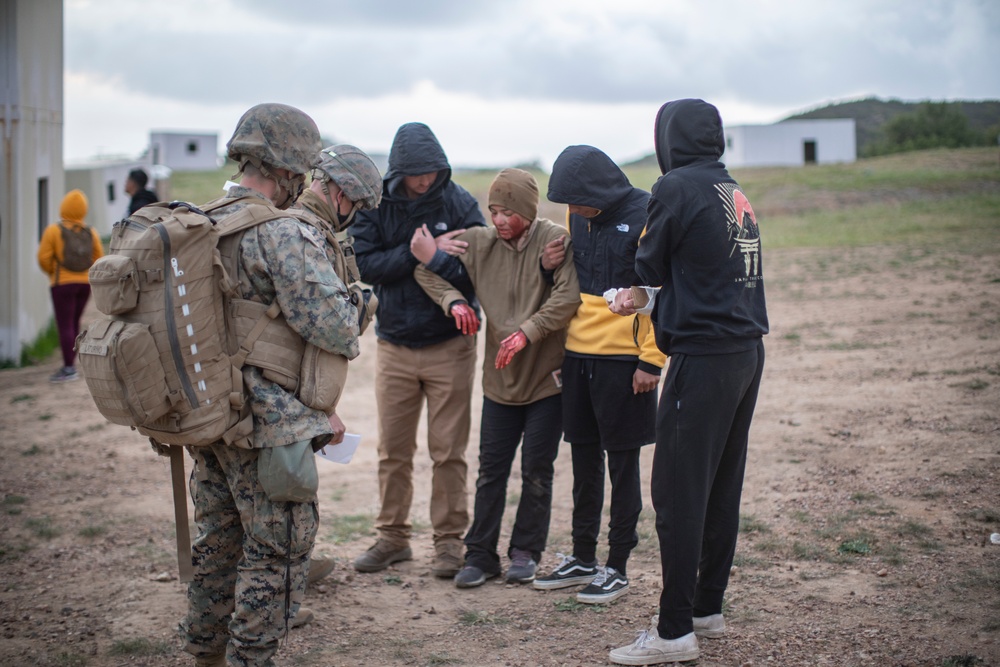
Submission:
[[[766,262],[772,330],[729,629],[701,642],[698,664],[1000,665],[996,255],[888,247]],[[309,589],[316,621],[289,634],[279,664],[606,664],[657,605],[648,484],[631,592],[609,606],[435,579],[423,448],[414,560],[355,573],[377,509],[372,334],[362,349],[341,407],[361,447],[350,465],[319,462],[318,550],[338,567]],[[167,460],[106,423],[83,382],[48,384],[57,363],[0,372],[0,664],[191,664],[175,630],[185,598]],[[470,492],[477,443],[474,425]],[[643,456],[648,476],[652,448]],[[543,569],[570,550],[570,488],[564,444]]]

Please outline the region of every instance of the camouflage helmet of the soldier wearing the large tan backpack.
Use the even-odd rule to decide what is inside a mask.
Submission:
[[[236,124],[226,154],[240,166],[249,161],[304,175],[316,166],[322,142],[319,128],[305,112],[287,104],[250,108]]]

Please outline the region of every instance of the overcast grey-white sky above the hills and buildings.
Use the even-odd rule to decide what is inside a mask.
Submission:
[[[66,0],[65,156],[136,156],[259,102],[387,152],[409,121],[453,166],[652,152],[656,110],[727,125],[832,101],[1000,98],[996,0]]]

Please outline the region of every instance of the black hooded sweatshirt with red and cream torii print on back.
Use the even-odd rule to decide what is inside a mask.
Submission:
[[[636,253],[643,284],[662,285],[653,318],[667,354],[727,354],[767,333],[757,219],[719,161],[722,120],[702,100],[664,104],[646,235]]]

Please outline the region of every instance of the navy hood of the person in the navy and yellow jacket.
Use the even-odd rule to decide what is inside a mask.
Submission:
[[[603,151],[569,146],[552,164],[549,201],[608,211],[632,192],[628,177]]]

